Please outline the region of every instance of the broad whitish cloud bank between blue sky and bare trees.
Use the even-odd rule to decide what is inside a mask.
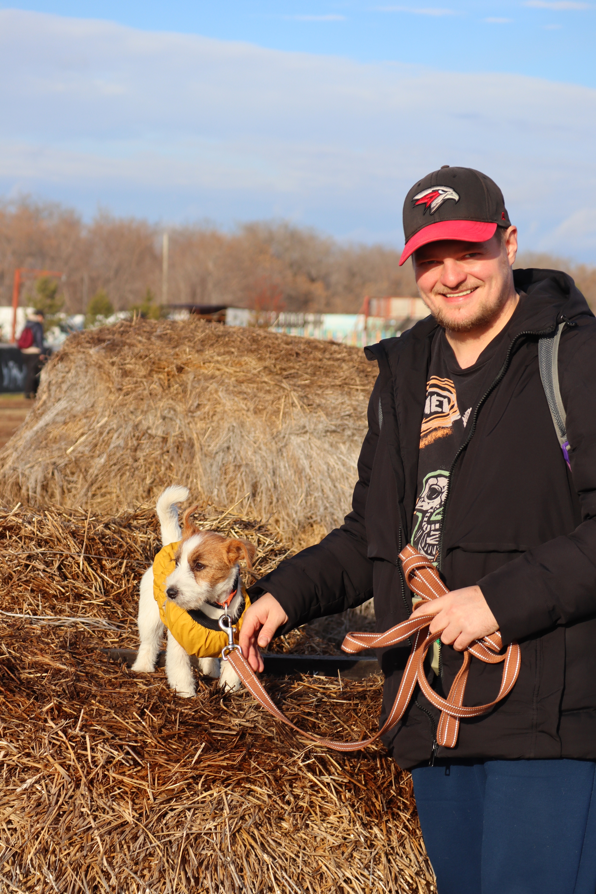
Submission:
[[[0,11],[0,194],[399,240],[441,164],[490,174],[525,248],[596,260],[596,90]],[[579,248],[578,248],[579,247]]]

